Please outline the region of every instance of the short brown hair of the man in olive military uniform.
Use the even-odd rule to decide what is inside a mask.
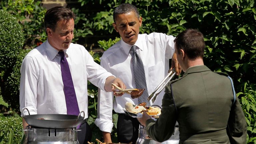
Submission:
[[[178,54],[182,49],[190,60],[204,56],[204,35],[196,29],[181,32],[174,40]]]

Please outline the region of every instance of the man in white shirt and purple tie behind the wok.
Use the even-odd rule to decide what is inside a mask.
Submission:
[[[44,26],[47,41],[31,50],[21,65],[20,111],[27,108],[30,114],[72,115],[84,111],[85,120],[79,128],[81,131],[78,131],[77,138],[80,144],[85,144],[92,137],[86,122],[87,80],[108,92],[114,90],[111,83],[121,88],[126,87],[119,78],[95,63],[82,45],[71,42],[75,17],[70,9],[63,6],[46,12]],[[73,95],[71,98],[70,93]],[[72,101],[75,103],[68,102],[70,99],[75,99]],[[74,107],[76,113],[73,113]],[[23,114],[28,115],[28,111],[24,111],[22,116]],[[23,128],[26,126],[23,119]]]

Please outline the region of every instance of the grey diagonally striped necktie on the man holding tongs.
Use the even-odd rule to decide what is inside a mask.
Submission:
[[[146,102],[147,106],[148,106],[149,105],[149,101],[147,100],[148,89],[147,89],[144,66],[143,66],[140,56],[136,53],[136,47],[137,46],[133,45],[131,48],[131,50],[132,50],[132,65],[133,65],[135,84],[136,84],[136,88],[145,89],[143,94],[140,97],[138,97],[138,101],[139,101],[139,103]]]

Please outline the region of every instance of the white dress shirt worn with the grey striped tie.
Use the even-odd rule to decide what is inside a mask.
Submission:
[[[138,35],[138,39],[134,45],[139,47],[136,52],[140,55],[144,65],[149,95],[168,74],[169,59],[172,58],[174,53],[174,39],[175,37],[163,33]],[[133,65],[131,63],[131,47],[132,45],[120,40],[105,51],[101,57],[101,66],[108,72],[122,79],[127,89],[136,88],[133,76]],[[164,91],[157,96],[153,105],[161,106],[163,95]],[[138,99],[132,99],[129,94],[124,94],[121,97],[116,96],[114,102],[113,97],[112,92],[98,90],[98,116],[95,120],[95,124],[101,131],[112,131],[113,108],[117,113],[124,113],[123,108],[127,101],[138,104]]]

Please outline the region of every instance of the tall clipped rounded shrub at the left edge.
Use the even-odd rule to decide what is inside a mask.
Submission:
[[[16,108],[19,105],[19,69],[24,57],[24,33],[17,19],[4,10],[0,10],[0,23],[1,95],[5,102]]]

